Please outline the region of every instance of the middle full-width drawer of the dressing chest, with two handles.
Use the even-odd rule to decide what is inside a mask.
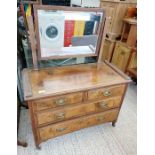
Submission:
[[[58,110],[48,110],[36,113],[38,125],[54,123],[93,112],[105,111],[111,108],[119,107],[121,97],[106,99],[97,103],[85,103],[64,107]]]

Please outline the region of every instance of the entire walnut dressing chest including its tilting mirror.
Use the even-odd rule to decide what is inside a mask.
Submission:
[[[54,11],[44,12],[43,10]],[[60,59],[64,56],[70,58],[79,55],[99,57],[100,46],[103,44],[102,38],[106,34],[104,11],[99,8],[36,5],[34,15],[37,50],[33,41],[35,34],[32,30],[32,22],[29,25],[34,68],[22,71],[22,81],[36,147],[40,148],[40,143],[48,139],[90,126],[106,122],[112,122],[115,126],[127,85],[130,82],[123,72],[107,61],[42,69],[37,67],[38,60],[48,58]],[[62,19],[61,22],[57,21],[55,18],[57,16]],[[46,22],[43,22],[43,19],[47,17],[53,19],[46,19]],[[71,19],[74,17],[76,19]],[[79,22],[79,19],[83,21]],[[29,18],[29,21],[32,20]],[[58,22],[64,31],[66,27],[63,25],[71,24],[71,32],[73,29],[75,31],[73,28],[75,23],[82,23],[83,32],[87,33],[83,34],[81,29],[80,36],[77,32],[76,35],[69,33],[70,40],[66,43],[66,36],[63,36],[63,45],[63,38],[60,35],[63,32],[59,32],[60,27],[51,21]],[[44,31],[46,23],[47,30]],[[75,27],[79,28],[77,24]],[[93,31],[90,31],[91,28]]]

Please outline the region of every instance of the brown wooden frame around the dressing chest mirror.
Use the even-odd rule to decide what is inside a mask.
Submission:
[[[38,60],[51,60],[51,59],[64,59],[64,58],[77,58],[77,57],[91,57],[98,56],[100,51],[100,46],[102,42],[103,30],[105,26],[105,11],[101,8],[80,8],[80,7],[66,7],[66,6],[51,6],[51,5],[34,5],[34,18],[35,18],[35,30],[36,30],[36,41],[37,41],[37,53]],[[103,13],[103,18],[100,23],[100,31],[97,40],[96,51],[94,54],[78,54],[78,55],[65,55],[65,56],[50,56],[41,57],[41,47],[40,47],[40,37],[39,37],[39,27],[38,27],[38,10],[62,10],[62,11],[84,11],[84,12],[101,12]]]

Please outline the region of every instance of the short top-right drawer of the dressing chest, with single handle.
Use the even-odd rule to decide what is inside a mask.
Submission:
[[[88,100],[106,99],[109,97],[122,96],[125,85],[105,87],[88,91]]]

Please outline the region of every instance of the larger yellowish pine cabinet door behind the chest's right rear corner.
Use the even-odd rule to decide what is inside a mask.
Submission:
[[[129,64],[131,51],[132,48],[130,48],[126,43],[117,42],[111,63],[123,72],[126,72],[127,66]]]

